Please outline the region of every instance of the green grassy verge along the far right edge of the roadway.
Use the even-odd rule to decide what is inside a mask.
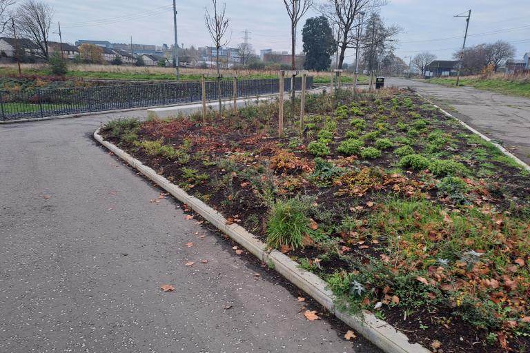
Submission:
[[[456,79],[435,78],[430,79],[429,83],[437,83],[449,87],[455,87]],[[510,80],[504,78],[478,79],[476,77],[460,79],[460,85],[467,85],[478,90],[488,90],[513,96],[530,97],[530,79]]]

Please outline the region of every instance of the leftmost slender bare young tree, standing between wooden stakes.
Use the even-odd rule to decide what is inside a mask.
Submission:
[[[206,28],[210,32],[210,37],[215,43],[216,49],[216,61],[217,61],[217,96],[219,97],[219,114],[222,112],[222,101],[221,101],[221,77],[219,76],[219,49],[230,43],[230,39],[225,39],[226,31],[230,25],[230,19],[226,17],[226,3],[223,3],[223,8],[220,12],[217,12],[217,0],[212,0],[213,4],[213,16],[206,8],[204,14],[204,20],[206,22]]]

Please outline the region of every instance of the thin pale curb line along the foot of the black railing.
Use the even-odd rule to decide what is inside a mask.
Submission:
[[[306,92],[309,93],[318,93],[317,91],[322,90],[322,87],[316,87],[311,88],[311,90],[307,90]],[[256,97],[259,98],[274,98],[278,93],[271,93],[271,94],[263,94],[263,95],[257,95]],[[237,101],[254,101],[255,97],[242,97],[238,98]],[[233,101],[230,101],[230,99],[223,99],[223,102],[227,103],[233,103]],[[206,101],[207,104],[213,104],[217,103],[217,100],[210,100]],[[71,119],[71,118],[80,118],[80,117],[86,117],[86,116],[92,116],[92,115],[100,115],[100,114],[112,114],[112,113],[120,113],[120,112],[134,112],[135,110],[149,110],[149,109],[158,109],[158,108],[177,108],[182,107],[185,105],[193,105],[193,104],[199,104],[201,101],[195,101],[195,102],[186,102],[186,103],[177,103],[177,104],[166,104],[166,105],[150,105],[148,107],[138,107],[138,108],[127,108],[127,109],[117,109],[117,110],[101,110],[101,112],[84,112],[84,113],[76,113],[76,114],[67,114],[67,115],[55,115],[52,117],[43,117],[43,118],[30,118],[30,119],[12,119],[12,120],[0,120],[0,125],[3,124],[14,124],[14,123],[29,123],[31,121],[44,121],[44,120],[57,120],[57,119]]]

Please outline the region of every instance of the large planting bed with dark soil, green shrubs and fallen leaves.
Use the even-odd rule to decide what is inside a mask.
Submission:
[[[290,116],[290,103],[286,115]],[[407,91],[309,95],[101,134],[433,352],[530,349],[530,178]]]

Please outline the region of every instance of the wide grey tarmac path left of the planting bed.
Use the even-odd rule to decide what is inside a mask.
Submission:
[[[108,118],[0,126],[0,352],[380,352],[157,199],[92,141]]]

